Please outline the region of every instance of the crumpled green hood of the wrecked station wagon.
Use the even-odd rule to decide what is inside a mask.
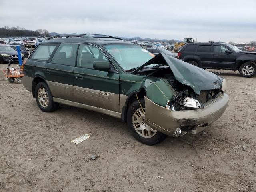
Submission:
[[[135,74],[141,68],[150,64],[168,65],[175,79],[184,85],[190,86],[198,95],[201,90],[220,89],[222,86],[222,78],[219,76],[162,53],[143,64],[132,74]]]

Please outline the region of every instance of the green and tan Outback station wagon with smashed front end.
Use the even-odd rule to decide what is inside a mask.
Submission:
[[[202,132],[228,105],[225,79],[204,69],[112,36],[59,37],[24,64],[23,85],[44,112],[66,104],[108,114],[153,145]]]

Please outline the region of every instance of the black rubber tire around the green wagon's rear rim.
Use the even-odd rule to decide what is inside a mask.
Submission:
[[[38,100],[38,90],[40,88],[44,88],[48,94],[48,105],[47,106],[42,106]],[[44,82],[39,82],[36,85],[36,90],[35,90],[35,97],[36,97],[36,103],[38,105],[38,107],[43,111],[43,112],[52,112],[55,109],[55,103],[53,102],[53,98],[52,98],[52,93],[50,91],[50,88],[47,86],[46,83]]]

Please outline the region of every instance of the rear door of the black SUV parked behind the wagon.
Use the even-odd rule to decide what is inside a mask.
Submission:
[[[202,68],[211,68],[212,66],[212,44],[199,44],[195,52],[195,58],[199,58]]]

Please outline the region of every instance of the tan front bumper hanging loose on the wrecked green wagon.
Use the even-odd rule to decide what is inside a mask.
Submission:
[[[203,104],[204,108],[184,111],[172,111],[145,98],[145,123],[154,130],[174,136],[177,128],[186,133],[196,134],[215,122],[228,106],[228,95],[219,93],[216,98]],[[189,128],[189,129],[188,129]]]

